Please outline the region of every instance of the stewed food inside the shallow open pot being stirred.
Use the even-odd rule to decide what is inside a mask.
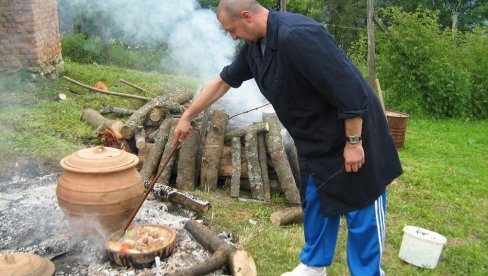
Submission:
[[[138,225],[128,229],[120,239],[109,240],[107,247],[119,253],[146,253],[161,248],[167,239],[168,233],[163,228]]]

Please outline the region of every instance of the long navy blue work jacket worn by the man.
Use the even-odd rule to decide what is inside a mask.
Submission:
[[[401,174],[376,95],[326,28],[310,18],[270,11],[264,55],[260,42],[246,44],[220,76],[234,88],[256,80],[295,142],[301,183],[313,175],[325,215],[371,204]],[[356,116],[363,118],[365,164],[334,175],[344,168],[344,119]]]

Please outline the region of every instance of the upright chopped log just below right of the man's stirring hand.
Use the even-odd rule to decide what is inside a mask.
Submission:
[[[198,132],[192,130],[181,144],[178,155],[176,188],[184,191],[195,190],[195,166]]]

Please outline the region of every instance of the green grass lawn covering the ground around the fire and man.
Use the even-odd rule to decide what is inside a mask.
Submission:
[[[195,90],[194,79],[140,72],[101,65],[68,62],[66,75],[87,84],[103,80],[110,90],[141,94],[118,80],[123,78],[148,91],[146,96],[177,87]],[[86,108],[103,102],[137,108],[140,100],[88,92],[62,79],[25,82],[26,76],[0,81],[0,164],[5,175],[21,158],[55,164],[63,156],[97,144],[93,128],[80,121]],[[70,92],[69,88],[79,94]],[[66,101],[53,101],[63,92]],[[123,118],[122,118],[123,119]],[[485,275],[488,271],[488,123],[436,121],[410,118],[405,147],[400,150],[404,174],[388,189],[387,244],[383,264],[390,275]],[[238,246],[252,253],[259,275],[279,275],[298,263],[303,229],[295,224],[276,227],[269,215],[284,207],[283,198],[272,203],[241,203],[226,189],[197,195],[213,208],[204,219],[216,232],[230,231]],[[254,223],[251,223],[250,220]],[[438,267],[422,269],[398,258],[405,225],[436,231],[447,237]],[[348,275],[345,225],[341,226],[330,275]]]

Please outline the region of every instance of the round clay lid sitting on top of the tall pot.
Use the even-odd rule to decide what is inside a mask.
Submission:
[[[110,147],[93,147],[79,150],[60,162],[65,170],[80,173],[107,173],[134,167],[139,158],[134,154]]]

